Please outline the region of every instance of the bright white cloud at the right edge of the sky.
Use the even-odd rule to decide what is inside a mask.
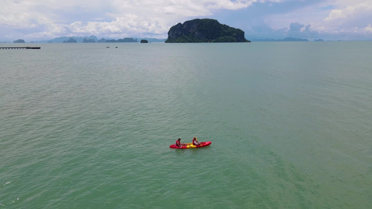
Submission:
[[[324,9],[327,7],[330,9]],[[311,35],[317,34],[320,36],[318,38],[371,39],[368,25],[372,25],[372,0],[324,0],[285,14],[270,15],[264,18],[264,23],[273,29],[288,27],[293,22],[310,24],[313,32]],[[304,36],[302,38],[315,37]]]

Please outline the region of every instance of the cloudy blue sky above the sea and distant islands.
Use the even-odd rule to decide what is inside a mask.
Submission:
[[[0,41],[58,36],[167,38],[213,18],[247,39],[372,40],[372,0],[0,0]]]

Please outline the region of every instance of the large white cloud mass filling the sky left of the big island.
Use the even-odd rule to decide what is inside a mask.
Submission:
[[[284,0],[5,0],[0,10],[0,27],[34,29],[29,37],[60,35],[159,34],[190,17],[213,15],[215,10],[237,10],[256,2]],[[9,13],[9,11],[12,11]],[[85,11],[86,19],[78,14]],[[103,15],[104,14],[104,15]],[[94,16],[105,16],[95,18]],[[110,19],[111,22],[99,20]],[[97,21],[89,21],[97,20]]]

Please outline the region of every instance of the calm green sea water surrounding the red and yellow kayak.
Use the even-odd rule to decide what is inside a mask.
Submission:
[[[38,45],[0,50],[0,209],[371,208],[372,42]]]

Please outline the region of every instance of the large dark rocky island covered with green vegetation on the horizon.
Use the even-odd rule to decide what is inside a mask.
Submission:
[[[193,19],[172,26],[166,43],[248,42],[244,31],[214,19]]]

